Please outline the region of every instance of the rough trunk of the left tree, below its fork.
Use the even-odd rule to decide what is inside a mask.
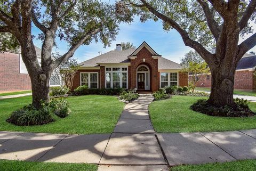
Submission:
[[[32,105],[35,108],[41,107],[41,101],[48,103],[50,101],[50,77],[45,74],[39,74],[37,78],[30,77],[32,85]]]

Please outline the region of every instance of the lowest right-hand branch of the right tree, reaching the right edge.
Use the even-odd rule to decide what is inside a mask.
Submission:
[[[241,59],[242,56],[249,51],[251,48],[253,48],[256,45],[256,33],[254,33],[251,37],[247,38],[238,45],[238,58]],[[239,60],[238,59],[238,60]]]

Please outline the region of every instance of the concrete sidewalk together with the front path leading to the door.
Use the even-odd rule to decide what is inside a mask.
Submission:
[[[0,132],[0,159],[87,162],[98,171],[159,171],[167,166],[256,158],[256,129],[214,133],[154,132],[151,95],[128,103],[111,134]]]

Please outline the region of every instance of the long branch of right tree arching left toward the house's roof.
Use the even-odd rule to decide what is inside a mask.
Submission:
[[[146,7],[147,9],[156,15],[159,19],[162,19],[163,21],[169,23],[175,30],[179,32],[181,35],[183,42],[185,43],[186,46],[189,46],[191,48],[194,48],[197,53],[199,53],[202,58],[208,63],[208,64],[214,64],[215,61],[215,56],[211,54],[209,51],[207,51],[203,45],[199,44],[195,40],[190,39],[188,32],[184,30],[177,22],[172,20],[171,18],[167,17],[166,15],[158,12],[155,10],[151,5],[149,5],[145,0],[140,0]]]

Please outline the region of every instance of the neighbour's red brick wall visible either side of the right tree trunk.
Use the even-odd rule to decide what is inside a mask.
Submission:
[[[253,75],[254,71],[244,70],[236,71],[234,88],[256,90],[256,76]],[[211,87],[211,75],[204,77],[197,84],[198,87]]]

